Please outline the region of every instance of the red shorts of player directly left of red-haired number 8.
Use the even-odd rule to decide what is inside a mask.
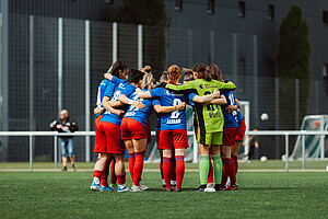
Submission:
[[[120,124],[121,139],[147,139],[144,126],[133,118],[124,117]]]

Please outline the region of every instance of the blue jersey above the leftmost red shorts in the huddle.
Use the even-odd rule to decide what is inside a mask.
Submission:
[[[113,77],[113,79],[114,79],[114,77]],[[129,97],[136,91],[134,85],[129,84],[125,80],[120,80],[120,79],[117,79],[117,80],[119,80],[119,83],[118,83],[117,87],[114,88],[114,92],[113,92],[113,88],[110,88],[109,84],[108,84],[107,88],[106,88],[105,94],[104,94],[104,96],[109,96],[109,97],[113,96],[110,99],[110,101],[117,101],[118,96],[120,94],[125,94],[126,96]],[[115,85],[115,83],[113,83],[113,85]],[[128,107],[129,107],[128,105],[125,105],[125,106],[120,106],[118,108],[127,112]],[[114,113],[110,113],[109,111],[106,111],[103,114],[103,117],[102,117],[101,122],[109,122],[109,123],[113,123],[113,124],[116,124],[116,125],[120,126],[121,117],[114,114]]]

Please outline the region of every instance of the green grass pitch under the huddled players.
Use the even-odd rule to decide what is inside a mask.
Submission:
[[[145,164],[145,169],[156,166]],[[216,193],[192,192],[197,172],[186,172],[183,193],[161,191],[157,172],[143,173],[150,187],[143,193],[91,192],[91,172],[0,172],[0,218],[317,219],[328,215],[327,172],[242,171],[239,191]],[[131,185],[129,175],[127,184]]]

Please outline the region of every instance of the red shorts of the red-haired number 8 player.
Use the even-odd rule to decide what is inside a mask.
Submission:
[[[161,130],[159,149],[189,148],[186,129]]]

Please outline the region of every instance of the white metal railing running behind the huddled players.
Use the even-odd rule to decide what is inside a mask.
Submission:
[[[194,131],[188,131],[188,136],[194,135]],[[327,136],[328,131],[309,131],[309,130],[259,130],[259,131],[247,131],[246,135],[256,136],[284,136],[285,137],[285,171],[289,172],[289,136],[302,136],[302,169],[305,170],[305,136]],[[30,170],[33,171],[33,137],[35,136],[52,136],[54,151],[55,151],[55,170],[57,170],[57,147],[59,136],[95,136],[94,131],[77,131],[77,132],[56,132],[56,131],[0,131],[0,136],[21,136],[30,138]],[[155,136],[155,131],[152,131],[152,136]],[[90,146],[87,146],[90,147]],[[321,149],[324,150],[324,148]],[[194,161],[198,160],[198,147],[194,142]]]

